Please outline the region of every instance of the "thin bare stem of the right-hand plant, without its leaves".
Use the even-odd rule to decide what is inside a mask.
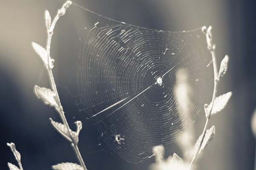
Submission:
[[[202,133],[202,139],[200,141],[200,144],[199,144],[199,146],[197,148],[197,151],[196,151],[195,155],[193,156],[192,161],[190,162],[190,165],[189,165],[188,169],[191,168],[192,164],[198,158],[198,154],[200,152],[202,143],[204,141],[204,137],[205,137],[205,133],[206,133],[206,130],[207,130],[208,123],[209,123],[209,119],[211,117],[214,99],[215,99],[216,93],[217,93],[217,85],[218,85],[217,62],[216,62],[216,57],[215,57],[215,52],[214,52],[215,46],[212,45],[212,39],[211,39],[212,37],[210,37],[210,35],[211,35],[211,32],[207,32],[206,33],[206,37],[208,36],[207,38],[209,38],[209,41],[207,41],[207,45],[208,45],[208,49],[209,49],[210,53],[212,54],[212,63],[213,63],[213,72],[214,72],[214,89],[213,89],[213,94],[212,94],[212,105],[210,106],[209,112],[206,113],[207,116],[206,116],[206,122],[205,122],[205,125],[204,125],[204,130],[203,130],[203,133]]]

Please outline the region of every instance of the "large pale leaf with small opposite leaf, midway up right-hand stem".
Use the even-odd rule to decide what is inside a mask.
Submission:
[[[213,102],[211,115],[222,111],[225,108],[225,106],[227,105],[227,102],[230,100],[231,96],[232,96],[232,92],[230,91],[226,94],[216,97]],[[211,105],[212,105],[212,102],[209,105],[205,105],[205,107],[204,107],[205,113],[207,115],[209,114]]]

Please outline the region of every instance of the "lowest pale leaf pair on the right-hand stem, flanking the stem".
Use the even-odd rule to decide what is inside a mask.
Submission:
[[[215,134],[215,126],[212,126],[205,133],[204,140],[202,142],[202,145],[201,145],[201,148],[199,150],[199,153],[209,144],[209,142],[212,141],[214,134]],[[198,150],[198,147],[199,147],[199,145],[200,145],[200,143],[202,141],[202,137],[203,137],[202,135],[199,136],[198,140],[196,141],[196,144],[195,144],[195,147],[194,147],[195,152]]]

